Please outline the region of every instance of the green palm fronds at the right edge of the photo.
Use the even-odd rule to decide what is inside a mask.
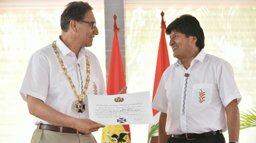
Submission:
[[[240,112],[240,130],[256,126],[256,107],[251,108],[252,111],[246,110],[248,113]]]

